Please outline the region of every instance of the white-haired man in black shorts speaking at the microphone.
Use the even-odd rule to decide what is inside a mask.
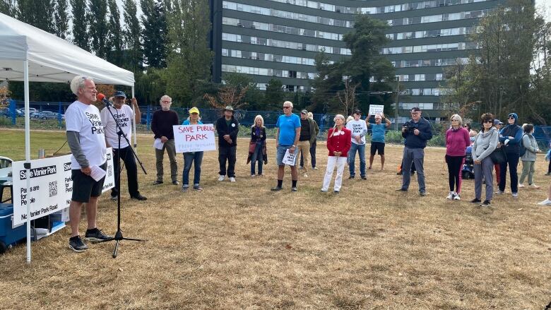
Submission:
[[[88,249],[78,234],[78,224],[81,221],[82,205],[86,203],[85,239],[90,242],[105,242],[111,240],[100,229],[97,229],[97,198],[103,189],[103,181],[95,181],[90,174],[92,167],[107,170],[107,148],[105,135],[100,118],[100,110],[92,102],[97,100],[97,90],[91,78],[76,76],[71,81],[71,91],[77,100],[65,112],[67,143],[71,148],[71,179],[73,193],[69,205],[69,220],[71,221],[71,238],[69,248],[76,252]]]

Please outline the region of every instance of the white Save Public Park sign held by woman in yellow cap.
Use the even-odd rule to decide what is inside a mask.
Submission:
[[[213,124],[174,125],[172,130],[177,153],[216,150]]]

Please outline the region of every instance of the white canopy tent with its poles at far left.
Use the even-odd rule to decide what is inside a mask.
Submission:
[[[100,59],[44,30],[0,13],[0,81],[23,81],[25,160],[27,162],[30,162],[29,81],[69,83],[74,76],[78,75],[93,78],[96,83],[131,86],[132,97],[134,97],[134,73]],[[136,143],[136,135],[134,135],[134,143]],[[27,187],[29,186],[30,178],[27,178]],[[27,218],[30,219],[29,206],[27,213]],[[30,263],[29,220],[27,222],[27,261]]]

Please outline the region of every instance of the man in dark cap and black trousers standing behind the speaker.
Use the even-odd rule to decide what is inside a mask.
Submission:
[[[100,95],[98,95],[97,97],[102,100],[103,98],[101,98]],[[128,141],[131,141],[131,117],[134,117],[134,119],[136,119],[136,124],[138,124],[141,119],[140,108],[138,107],[138,102],[136,101],[136,98],[132,98],[131,100],[135,112],[132,111],[129,105],[125,105],[124,102],[126,100],[126,94],[120,90],[115,92],[113,97],[113,107],[110,108],[112,114],[109,113],[107,107],[102,109],[102,112],[100,113],[103,128],[105,129],[105,143],[107,144],[107,148],[113,148],[115,186],[111,191],[111,199],[117,200],[117,189],[120,189],[119,173],[121,172],[121,168],[120,162],[119,160],[117,160],[117,158],[119,158],[117,156],[120,155],[120,158],[124,162],[124,166],[126,167],[126,177],[128,179],[128,191],[130,193],[130,198],[137,199],[138,201],[145,201],[147,198],[145,196],[142,196],[138,191],[138,167],[136,167],[136,159],[134,158],[134,153],[132,153],[132,150],[130,149],[131,145],[126,142],[126,139],[124,137],[121,137],[121,145],[119,148],[119,136],[117,135],[117,131],[119,131],[119,129],[117,128],[118,122],[124,136],[128,138]]]

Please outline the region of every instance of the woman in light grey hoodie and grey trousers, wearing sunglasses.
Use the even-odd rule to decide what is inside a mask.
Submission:
[[[499,133],[494,127],[494,115],[482,114],[482,130],[476,135],[473,143],[473,161],[475,162],[475,198],[471,203],[480,203],[482,197],[482,176],[486,181],[486,198],[481,207],[489,207],[494,194],[494,162],[490,154],[497,148]]]

